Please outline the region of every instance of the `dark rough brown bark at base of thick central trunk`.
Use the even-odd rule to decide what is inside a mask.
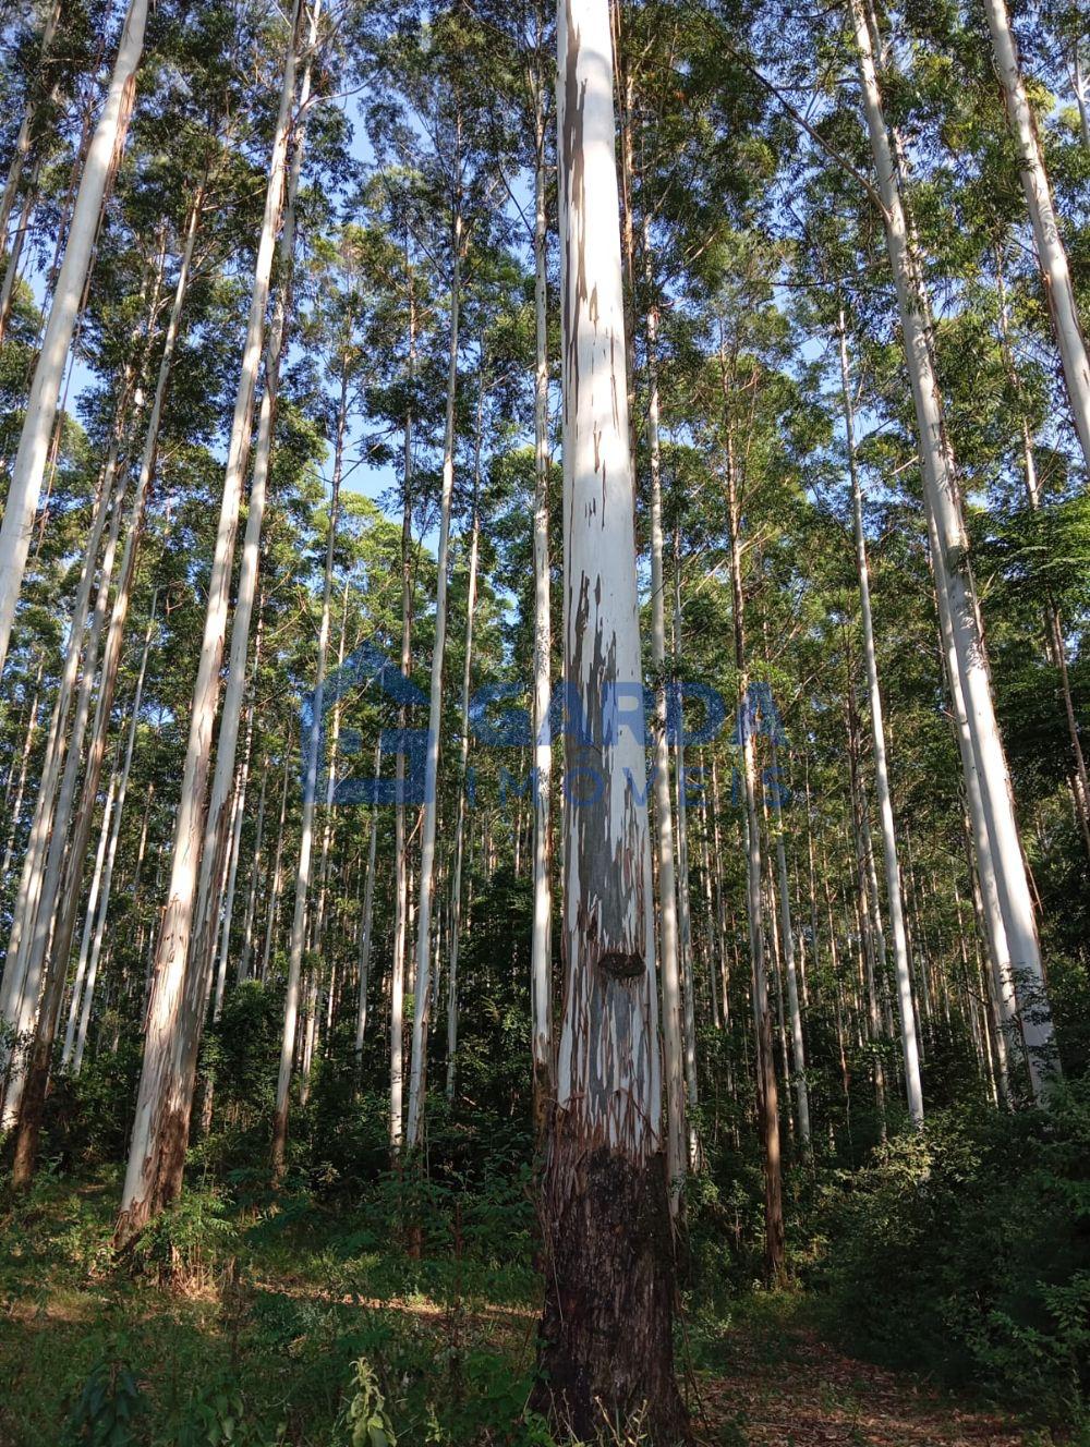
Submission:
[[[638,1166],[554,1136],[543,1191],[546,1299],[534,1408],[588,1443],[607,1424],[635,1422],[653,1447],[690,1443],[673,1375],[664,1156]]]

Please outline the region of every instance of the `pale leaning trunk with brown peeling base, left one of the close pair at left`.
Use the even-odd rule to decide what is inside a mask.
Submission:
[[[204,634],[190,712],[181,799],[174,823],[171,881],[155,951],[152,994],[145,1030],[143,1069],[140,1072],[129,1146],[122,1214],[117,1221],[119,1240],[139,1231],[151,1215],[158,1214],[178,1194],[185,1160],[191,1098],[187,1098],[185,1082],[181,1078],[175,1056],[179,1033],[185,1029],[182,1013],[187,1003],[187,958],[193,929],[197,871],[204,842],[204,813],[211,767],[211,735],[220,699],[220,666],[227,634],[227,602],[235,560],[235,541],[239,528],[242,485],[253,423],[253,394],[265,336],[265,313],[272,276],[272,258],[284,204],[285,162],[291,106],[295,96],[295,65],[301,16],[303,0],[295,0],[284,62],[279,110],[269,158],[269,185],[265,194],[265,214],[258,242],[253,294],[242,356],[242,375],[235,399],[223,501],[208,582]],[[190,1022],[187,1035],[198,1029],[198,1022]]]

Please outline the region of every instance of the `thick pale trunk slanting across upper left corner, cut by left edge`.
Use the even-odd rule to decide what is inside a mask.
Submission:
[[[84,162],[61,275],[35,366],[19,451],[12,467],[12,482],[0,525],[0,671],[7,658],[75,315],[91,265],[106,190],[124,149],[146,20],[148,0],[130,0],[106,104]]]

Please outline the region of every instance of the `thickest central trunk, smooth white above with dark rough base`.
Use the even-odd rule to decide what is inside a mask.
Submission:
[[[608,0],[557,6],[557,56],[566,988],[536,1402],[580,1437],[644,1414],[677,1443]]]

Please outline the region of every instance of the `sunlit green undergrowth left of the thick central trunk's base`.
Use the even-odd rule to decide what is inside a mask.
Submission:
[[[119,1188],[45,1176],[7,1205],[4,1447],[549,1441],[524,1411],[537,1285],[499,1188],[428,1192],[415,1255],[397,1178],[356,1208],[198,1184],[117,1259]]]

